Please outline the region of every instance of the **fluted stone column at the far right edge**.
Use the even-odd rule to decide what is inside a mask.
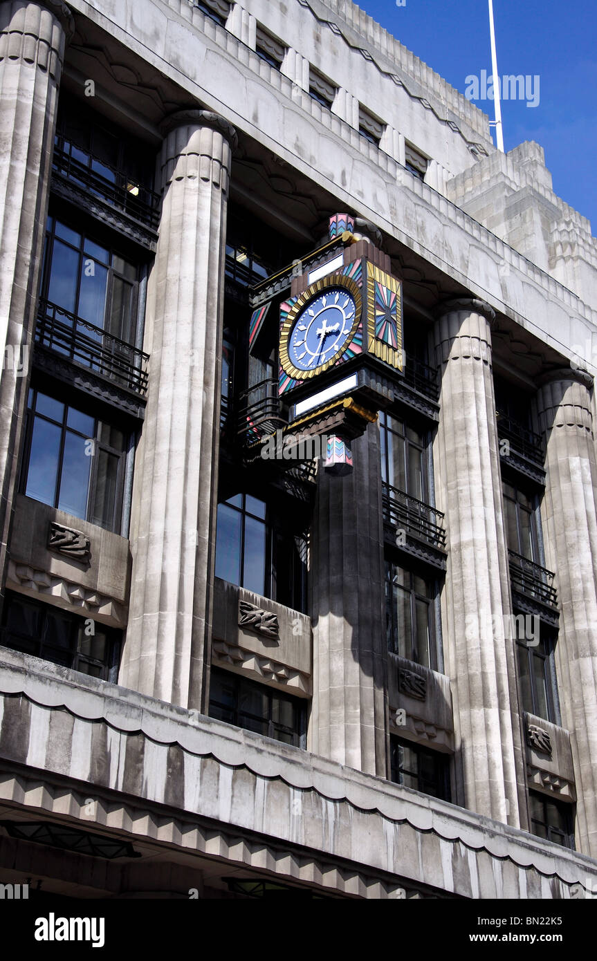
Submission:
[[[556,671],[574,759],[576,844],[597,857],[597,462],[589,384],[581,371],[558,371],[535,405],[547,441],[541,519],[560,603]]]

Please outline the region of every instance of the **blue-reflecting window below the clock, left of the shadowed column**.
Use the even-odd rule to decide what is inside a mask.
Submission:
[[[250,494],[217,508],[215,576],[279,604],[304,610],[307,541],[282,510]]]

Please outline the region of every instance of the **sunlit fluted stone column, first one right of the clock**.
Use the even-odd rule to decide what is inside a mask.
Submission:
[[[514,642],[503,628],[511,607],[491,377],[493,311],[475,300],[449,302],[440,310],[434,332],[441,377],[434,465],[448,544],[441,608],[454,694],[454,800],[526,827]]]

